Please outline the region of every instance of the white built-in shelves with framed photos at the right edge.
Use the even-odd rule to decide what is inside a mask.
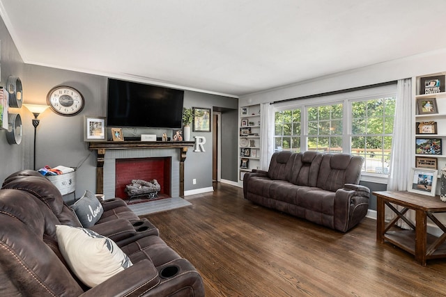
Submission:
[[[414,93],[414,99],[413,99],[413,107],[415,111],[414,115],[414,166],[417,166],[417,159],[423,158],[423,159],[436,159],[437,166],[436,168],[432,169],[438,169],[438,174],[440,174],[441,168],[446,166],[446,92],[444,91],[444,83],[445,83],[445,74],[446,72],[438,72],[433,74],[426,74],[419,77],[415,77],[415,88]],[[422,94],[424,93],[424,83],[423,81],[426,80],[426,78],[431,77],[443,77],[443,81],[441,81],[443,85],[442,92],[440,93],[432,93],[432,94]],[[432,100],[429,100],[432,99]],[[426,102],[430,102],[429,104],[432,104],[434,107],[436,107],[436,111],[433,113],[429,113],[429,111],[426,111],[426,109],[423,109],[423,104],[426,104]],[[433,103],[433,101],[436,102],[436,104]],[[436,106],[435,106],[436,105]],[[420,134],[419,131],[419,125],[418,123],[429,123],[429,125],[433,125],[433,123],[436,123],[436,131],[435,134]],[[438,154],[438,150],[432,150],[428,153],[420,153],[422,152],[421,146],[417,145],[417,140],[420,139],[440,139],[441,140],[441,154]],[[431,141],[430,141],[431,142]],[[428,145],[429,146],[429,145]],[[427,148],[424,150],[424,152],[428,152]],[[439,186],[437,186],[438,190]],[[438,192],[438,191],[437,191]]]

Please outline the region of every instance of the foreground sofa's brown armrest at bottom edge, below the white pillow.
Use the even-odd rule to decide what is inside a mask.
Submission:
[[[157,269],[149,259],[143,259],[81,296],[141,296],[159,283]]]

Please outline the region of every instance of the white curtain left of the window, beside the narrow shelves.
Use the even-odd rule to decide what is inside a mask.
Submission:
[[[274,152],[274,108],[269,103],[261,106],[261,170],[268,170]]]

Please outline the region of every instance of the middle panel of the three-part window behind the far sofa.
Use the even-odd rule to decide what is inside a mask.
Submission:
[[[307,150],[342,152],[342,104],[307,109]]]

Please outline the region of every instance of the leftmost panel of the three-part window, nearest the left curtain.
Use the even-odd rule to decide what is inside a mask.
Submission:
[[[300,152],[300,109],[275,113],[274,149]]]

